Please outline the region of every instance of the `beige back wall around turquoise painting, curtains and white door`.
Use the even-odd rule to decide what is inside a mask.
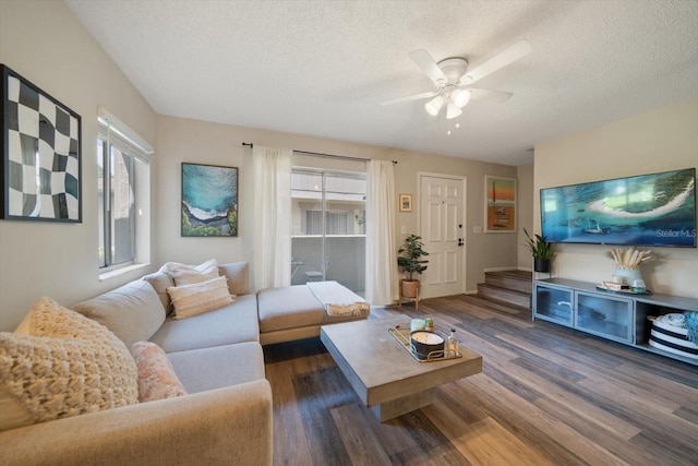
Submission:
[[[161,261],[196,262],[210,258],[221,261],[251,260],[253,231],[250,230],[252,215],[250,202],[249,150],[241,143],[254,143],[270,147],[284,147],[349,157],[397,160],[395,166],[396,193],[417,195],[419,172],[457,175],[467,177],[466,236],[466,289],[476,290],[484,268],[516,267],[516,235],[472,234],[473,226],[484,223],[484,176],[516,177],[516,168],[495,164],[464,160],[421,153],[390,150],[348,142],[275,131],[255,130],[204,121],[158,117],[157,174],[157,256]],[[332,164],[328,159],[323,163]],[[239,168],[240,187],[240,236],[238,238],[181,238],[180,200],[181,163],[225,165]],[[315,159],[317,162],[317,159]],[[338,163],[339,164],[339,163]],[[399,227],[409,232],[419,231],[418,214],[398,213],[396,243],[402,242]]]

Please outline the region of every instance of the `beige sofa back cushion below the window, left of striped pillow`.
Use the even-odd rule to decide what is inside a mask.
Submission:
[[[113,332],[127,347],[151,338],[165,322],[165,309],[149,283],[136,279],[73,308]]]

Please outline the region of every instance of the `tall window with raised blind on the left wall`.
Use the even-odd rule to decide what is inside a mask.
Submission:
[[[99,267],[149,259],[149,146],[100,109],[97,138]]]

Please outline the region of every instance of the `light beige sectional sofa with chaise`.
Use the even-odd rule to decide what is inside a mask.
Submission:
[[[173,283],[164,273],[73,308],[127,347],[157,344],[188,395],[0,431],[0,463],[270,465],[273,405],[262,343],[316,336],[323,324],[364,319],[368,312],[328,318],[304,285],[257,295],[246,263],[219,271],[234,301],[186,319],[168,315],[167,287]]]

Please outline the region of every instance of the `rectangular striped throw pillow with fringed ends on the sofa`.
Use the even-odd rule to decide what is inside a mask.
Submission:
[[[226,277],[173,286],[167,292],[174,304],[174,319],[191,318],[232,302]]]

